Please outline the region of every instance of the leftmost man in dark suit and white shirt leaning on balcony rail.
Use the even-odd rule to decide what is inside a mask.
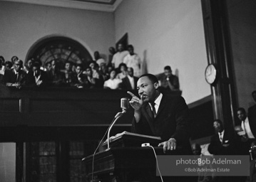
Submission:
[[[14,68],[5,70],[3,82],[6,86],[21,88],[26,82],[26,72],[22,70],[22,60],[14,61]]]

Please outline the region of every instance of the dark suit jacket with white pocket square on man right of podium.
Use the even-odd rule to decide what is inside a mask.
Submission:
[[[231,130],[225,129],[222,143],[220,142],[219,134],[213,135],[210,139],[208,151],[214,155],[238,155],[240,151],[240,140]],[[223,146],[228,145],[228,146]]]

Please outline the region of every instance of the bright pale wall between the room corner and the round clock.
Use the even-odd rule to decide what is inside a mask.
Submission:
[[[178,73],[188,104],[211,94],[200,0],[125,0],[115,12],[115,28],[116,41],[128,33],[148,73],[161,73],[165,65]]]

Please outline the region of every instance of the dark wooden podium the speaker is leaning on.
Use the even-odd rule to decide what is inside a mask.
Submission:
[[[114,146],[110,149],[96,153],[94,161],[93,155],[83,159],[86,164],[88,181],[92,181],[92,172],[95,177],[94,181],[101,182],[160,181],[160,177],[156,176],[153,149],[149,146],[141,147],[144,142],[139,146],[139,142],[134,142],[135,146],[130,146],[131,142],[126,142],[127,138],[128,140],[145,140],[145,137],[141,138],[137,134],[136,136],[123,134],[121,137],[118,136],[118,139],[114,139],[113,143],[111,142]],[[153,138],[149,139],[152,141]],[[116,146],[116,144],[119,145]],[[163,147],[154,147],[154,149],[157,155],[164,155]],[[174,154],[175,151],[172,153]]]

